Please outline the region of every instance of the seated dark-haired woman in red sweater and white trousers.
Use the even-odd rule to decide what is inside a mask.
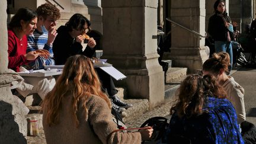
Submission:
[[[15,72],[20,72],[21,66],[37,59],[40,53],[37,51],[26,53],[27,37],[26,35],[33,34],[36,29],[37,14],[31,9],[20,8],[17,13],[11,18],[8,24],[8,68]],[[44,51],[47,57],[49,52]],[[37,85],[30,85],[22,82],[21,85],[15,88],[19,94],[26,97],[28,94],[38,93],[41,99],[52,90],[55,85],[55,79],[42,79],[36,82]]]

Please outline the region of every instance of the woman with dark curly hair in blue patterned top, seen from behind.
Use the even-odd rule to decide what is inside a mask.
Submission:
[[[177,93],[168,143],[244,143],[232,104],[211,75],[189,75]]]

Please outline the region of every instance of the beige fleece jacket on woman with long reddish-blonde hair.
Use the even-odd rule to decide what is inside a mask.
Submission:
[[[141,143],[139,132],[116,132],[107,137],[117,129],[113,122],[111,110],[107,103],[95,95],[91,95],[86,101],[88,113],[86,114],[81,103],[78,104],[79,126],[76,127],[72,116],[72,95],[68,94],[62,101],[60,110],[60,123],[55,126],[46,124],[47,105],[43,109],[43,128],[47,144],[58,143]]]

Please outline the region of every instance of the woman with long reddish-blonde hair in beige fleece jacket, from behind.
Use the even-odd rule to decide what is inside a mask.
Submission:
[[[140,143],[152,129],[111,133],[117,129],[111,103],[91,60],[68,58],[63,73],[43,102],[43,127],[47,143]]]

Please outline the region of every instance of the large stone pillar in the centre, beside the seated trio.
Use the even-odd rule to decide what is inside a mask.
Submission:
[[[157,2],[102,1],[103,57],[127,76],[117,82],[129,97],[147,98],[150,107],[164,100],[164,72],[156,53]]]

